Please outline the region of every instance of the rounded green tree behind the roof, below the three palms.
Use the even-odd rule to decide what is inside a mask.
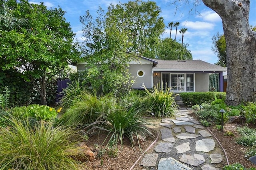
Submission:
[[[157,54],[161,60],[192,60],[192,54],[186,49],[186,45],[183,46],[171,38],[161,40]]]

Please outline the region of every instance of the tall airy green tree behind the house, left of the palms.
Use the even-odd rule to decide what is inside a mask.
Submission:
[[[118,27],[126,30],[132,48],[129,51],[144,57],[155,58],[156,46],[164,33],[164,19],[160,17],[156,2],[142,0],[124,4],[111,4],[108,15],[115,16]]]

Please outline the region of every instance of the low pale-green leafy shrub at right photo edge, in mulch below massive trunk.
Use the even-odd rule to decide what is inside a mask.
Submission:
[[[249,127],[237,128],[240,137],[236,139],[236,143],[246,147],[256,147],[256,130]]]

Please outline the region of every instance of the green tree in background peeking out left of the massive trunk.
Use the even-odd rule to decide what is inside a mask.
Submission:
[[[224,34],[220,35],[217,33],[217,35],[214,35],[212,37],[212,43],[212,51],[218,57],[216,65],[226,67],[226,40]]]

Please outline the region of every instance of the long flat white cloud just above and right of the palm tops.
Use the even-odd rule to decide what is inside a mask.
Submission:
[[[182,25],[185,25],[188,29],[202,29],[202,30],[211,30],[214,29],[214,24],[209,22],[202,22],[202,21],[184,21]]]

